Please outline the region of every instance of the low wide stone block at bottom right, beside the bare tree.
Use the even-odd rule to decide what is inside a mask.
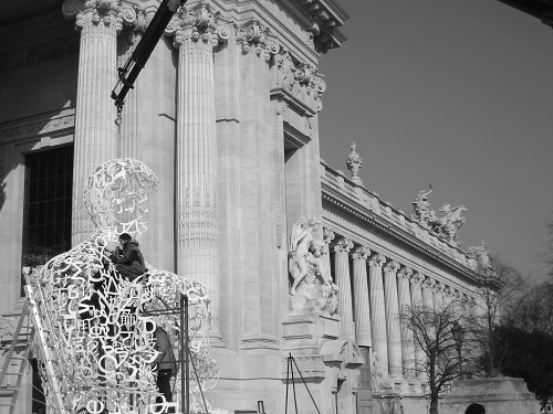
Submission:
[[[524,380],[519,378],[492,378],[456,381],[447,395],[440,412],[463,414],[470,403],[479,403],[487,413],[539,414],[540,404],[528,391]]]

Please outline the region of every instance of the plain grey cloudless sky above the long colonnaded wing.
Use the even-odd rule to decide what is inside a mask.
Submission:
[[[553,30],[497,0],[338,0],[348,40],[323,55],[321,157],[410,214],[465,204],[462,248],[486,241],[544,275],[553,220]],[[348,172],[347,172],[348,173]]]

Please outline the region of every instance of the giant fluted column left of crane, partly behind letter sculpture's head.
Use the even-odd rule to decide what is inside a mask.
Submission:
[[[66,19],[81,31],[75,107],[72,245],[86,240],[94,225],[82,192],[96,166],[117,155],[116,109],[111,98],[117,81],[117,34],[123,28],[116,0],[66,0]]]

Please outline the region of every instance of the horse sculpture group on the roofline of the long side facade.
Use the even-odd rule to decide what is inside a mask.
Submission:
[[[417,221],[421,226],[430,230],[431,233],[442,238],[452,246],[458,246],[460,243],[457,237],[457,230],[465,223],[466,219],[461,215],[467,212],[465,205],[444,204],[439,212],[445,215],[439,217],[434,210],[430,209],[428,195],[432,192],[432,185],[429,185],[429,191],[420,191],[417,199],[411,203],[414,213],[411,219]]]

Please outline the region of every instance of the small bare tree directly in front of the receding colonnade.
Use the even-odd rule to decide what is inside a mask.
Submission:
[[[430,414],[438,414],[440,392],[461,374],[462,361],[451,332],[453,323],[460,320],[457,306],[457,302],[442,309],[415,306],[401,312],[401,320],[425,355],[416,363],[428,378]]]

